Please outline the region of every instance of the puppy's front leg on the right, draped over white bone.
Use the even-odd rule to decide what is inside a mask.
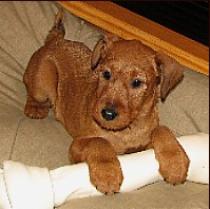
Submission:
[[[167,127],[160,126],[152,133],[152,143],[164,180],[174,185],[183,183],[189,159],[174,134]]]

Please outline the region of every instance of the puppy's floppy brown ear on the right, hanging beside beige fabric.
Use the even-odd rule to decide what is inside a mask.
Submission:
[[[163,53],[156,54],[155,64],[160,78],[160,97],[164,101],[184,77],[184,66]]]

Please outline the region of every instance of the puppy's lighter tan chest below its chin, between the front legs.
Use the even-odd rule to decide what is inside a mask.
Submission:
[[[151,133],[158,126],[158,123],[158,117],[149,117],[147,120],[145,118],[142,122],[139,122],[130,128],[121,131],[108,131],[100,128],[92,121],[92,123],[89,123],[86,126],[85,131],[84,129],[80,131],[82,135],[79,136],[79,138],[105,138],[112,144],[117,154],[139,152],[145,150],[150,144]]]

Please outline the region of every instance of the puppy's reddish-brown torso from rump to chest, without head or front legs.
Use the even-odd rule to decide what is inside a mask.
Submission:
[[[152,130],[158,125],[154,98],[156,95],[152,98],[150,96],[150,100],[144,105],[144,111],[141,111],[131,124],[118,131],[107,131],[93,117],[98,78],[90,68],[91,56],[92,52],[82,43],[60,37],[56,41],[48,41],[33,55],[25,72],[24,82],[28,95],[40,103],[50,102],[56,119],[74,139],[106,138],[118,154],[143,150],[151,141]],[[31,67],[34,62],[36,69]],[[128,72],[122,75],[120,70],[116,75],[119,80],[124,80],[127,76]],[[123,88],[128,91],[126,87]],[[122,99],[129,100],[128,97]],[[32,108],[30,105],[28,108],[26,106],[26,114],[33,114]],[[33,117],[43,116],[40,114]]]

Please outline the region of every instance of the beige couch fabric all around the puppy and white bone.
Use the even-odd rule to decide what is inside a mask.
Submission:
[[[0,164],[18,160],[55,168],[68,164],[72,141],[52,113],[44,120],[23,114],[26,98],[22,76],[32,53],[50,30],[56,7],[52,2],[0,2]],[[66,38],[84,42],[91,49],[100,33],[85,21],[65,14]],[[184,81],[160,103],[161,123],[176,134],[208,133],[208,77],[185,71]],[[164,182],[127,194],[73,200],[61,209],[104,208],[208,208],[208,186]]]

